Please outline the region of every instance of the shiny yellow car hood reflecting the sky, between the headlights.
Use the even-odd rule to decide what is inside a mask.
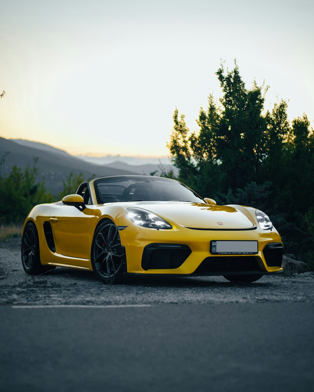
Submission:
[[[152,211],[166,220],[195,229],[250,229],[254,227],[254,224],[243,212],[226,205],[176,203],[173,201],[148,201],[134,204],[137,205],[136,207]]]

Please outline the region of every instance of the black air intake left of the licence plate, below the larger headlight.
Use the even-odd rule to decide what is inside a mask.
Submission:
[[[144,248],[142,269],[147,271],[179,268],[190,254],[188,245],[152,243]]]

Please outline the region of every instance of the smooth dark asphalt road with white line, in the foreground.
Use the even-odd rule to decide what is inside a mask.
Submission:
[[[0,307],[1,392],[313,390],[313,303],[23,306]]]

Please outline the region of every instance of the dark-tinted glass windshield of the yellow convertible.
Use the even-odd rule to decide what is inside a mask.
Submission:
[[[181,182],[149,176],[117,176],[99,178],[94,182],[97,202],[119,201],[192,201],[205,203]]]

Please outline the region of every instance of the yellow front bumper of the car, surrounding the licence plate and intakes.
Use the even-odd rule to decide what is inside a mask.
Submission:
[[[281,238],[276,230],[265,232],[259,227],[255,230],[193,230],[182,226],[171,230],[157,230],[132,225],[120,231],[120,238],[126,249],[127,270],[133,274],[208,276],[283,272],[281,265],[267,265],[263,254],[266,245],[281,244]],[[258,253],[214,255],[210,253],[211,240],[257,240]],[[183,245],[190,249],[190,252],[178,267],[174,264],[176,268],[169,268],[167,264],[164,264],[167,268],[155,268],[156,264],[143,263],[144,249],[147,246],[151,247],[152,244]],[[202,268],[204,263],[211,265],[211,268]],[[229,268],[229,265],[232,265],[232,268]]]

